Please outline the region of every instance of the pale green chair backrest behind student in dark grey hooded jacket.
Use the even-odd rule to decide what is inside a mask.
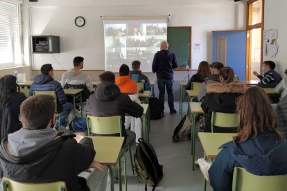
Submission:
[[[121,116],[87,116],[87,130],[90,134],[120,134],[121,136]]]

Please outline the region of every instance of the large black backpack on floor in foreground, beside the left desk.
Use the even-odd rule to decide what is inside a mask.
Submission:
[[[163,165],[159,165],[157,154],[148,141],[139,138],[139,144],[134,153],[134,170],[137,172],[137,179],[141,183],[145,183],[145,190],[147,185],[153,186],[153,190],[160,180],[162,180]]]

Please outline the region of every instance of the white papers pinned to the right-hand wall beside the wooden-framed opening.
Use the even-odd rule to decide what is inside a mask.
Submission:
[[[277,29],[263,31],[263,54],[266,56],[275,57],[278,52],[277,44],[278,33]]]

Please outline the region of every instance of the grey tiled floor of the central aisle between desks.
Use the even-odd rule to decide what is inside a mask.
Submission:
[[[151,121],[150,143],[155,147],[159,163],[164,165],[164,177],[155,190],[203,190],[203,178],[200,169],[196,166],[194,171],[191,169],[191,142],[173,143],[172,141],[173,130],[180,122],[178,102],[175,103],[175,108],[177,109],[177,114],[170,115],[166,105],[165,117]],[[186,109],[187,104],[184,103],[184,113],[186,113]],[[195,156],[195,158],[203,156],[202,147],[198,140],[195,141]],[[128,159],[128,190],[144,190],[144,184],[137,181],[137,175],[132,175],[130,157],[127,155],[126,158]],[[110,184],[107,185],[107,190],[110,190]],[[118,183],[115,183],[115,190],[119,190]],[[152,188],[148,188],[148,190],[152,190]],[[209,185],[207,190],[211,190]]]

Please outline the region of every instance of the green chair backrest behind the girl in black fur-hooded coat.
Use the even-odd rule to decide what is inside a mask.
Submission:
[[[214,126],[239,127],[238,113],[220,113],[212,111],[211,132],[214,132]]]

